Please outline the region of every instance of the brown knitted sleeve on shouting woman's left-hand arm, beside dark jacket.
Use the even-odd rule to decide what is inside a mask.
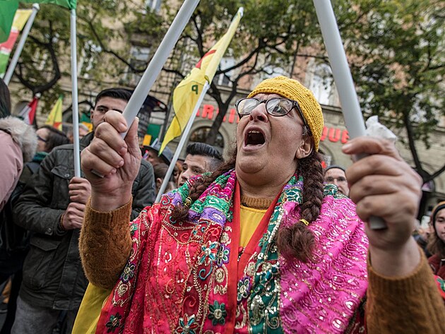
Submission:
[[[85,275],[93,285],[112,289],[119,279],[131,252],[130,215],[131,201],[105,213],[87,203],[79,251]]]

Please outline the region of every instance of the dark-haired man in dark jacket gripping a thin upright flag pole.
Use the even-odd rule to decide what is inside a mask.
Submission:
[[[123,112],[131,96],[127,90],[111,88],[96,97],[91,112],[93,132],[80,141],[81,150],[93,140],[94,131],[109,110]],[[116,167],[119,166],[116,159]],[[14,208],[16,223],[32,231],[30,252],[23,264],[23,282],[12,333],[52,333],[62,311],[66,311],[66,333],[88,285],[78,251],[85,204],[90,183],[73,177],[73,145],[61,145],[42,161],[30,186]],[[131,217],[135,218],[155,199],[153,167],[141,162],[133,182]]]

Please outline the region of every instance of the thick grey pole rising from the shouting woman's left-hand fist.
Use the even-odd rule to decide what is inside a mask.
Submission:
[[[174,45],[177,40],[179,40],[179,36],[189,22],[191,14],[193,14],[198,3],[199,0],[184,1],[184,4],[182,4],[177,16],[173,20],[172,25],[170,25],[170,28],[165,34],[164,39],[156,50],[153,59],[151,59],[150,64],[148,64],[146,71],[143,73],[141,80],[124,109],[123,115],[129,127],[133,124],[133,121],[141,109],[144,100],[146,100],[153,83],[155,83],[156,78],[158,78],[162,66],[164,66],[165,61],[167,61],[170,52],[172,52]],[[126,136],[126,133],[124,133],[123,136]]]

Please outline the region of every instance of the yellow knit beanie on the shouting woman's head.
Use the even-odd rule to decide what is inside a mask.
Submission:
[[[259,83],[248,97],[254,97],[259,93],[278,94],[297,101],[309,129],[311,129],[312,138],[314,138],[314,149],[319,150],[321,132],[324,126],[323,112],[321,112],[319,102],[316,102],[314,94],[310,90],[297,80],[277,76]]]

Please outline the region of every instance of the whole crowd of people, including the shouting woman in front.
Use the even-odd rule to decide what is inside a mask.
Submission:
[[[425,253],[421,179],[393,144],[355,138],[343,153],[369,156],[324,169],[321,107],[279,76],[236,102],[227,159],[189,144],[154,203],[173,153],[139,146],[130,94],[96,96],[74,177],[70,136],[11,117],[0,80],[1,333],[445,333],[445,202]]]

